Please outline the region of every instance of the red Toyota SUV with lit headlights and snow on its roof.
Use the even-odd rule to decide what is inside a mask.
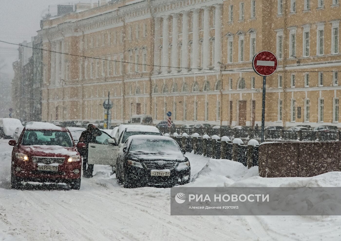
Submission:
[[[68,129],[50,123],[29,122],[18,142],[10,140],[9,145],[14,146],[12,188],[19,189],[22,181],[33,181],[66,183],[71,189],[79,190],[81,158]]]

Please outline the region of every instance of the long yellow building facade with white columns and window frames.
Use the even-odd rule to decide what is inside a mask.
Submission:
[[[110,91],[113,123],[260,124],[268,50],[266,125],[341,127],[340,16],[338,0],[146,0],[46,19],[42,119],[102,120]]]

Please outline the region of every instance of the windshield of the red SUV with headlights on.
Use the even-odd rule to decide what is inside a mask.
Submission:
[[[68,132],[55,130],[25,130],[21,144],[24,146],[49,145],[73,147]]]

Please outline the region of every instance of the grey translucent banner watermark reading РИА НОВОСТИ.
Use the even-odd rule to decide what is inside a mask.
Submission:
[[[174,187],[171,215],[341,215],[341,188]]]

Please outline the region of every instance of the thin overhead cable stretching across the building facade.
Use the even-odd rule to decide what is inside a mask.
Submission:
[[[139,63],[133,63],[133,62],[128,62],[128,61],[119,61],[119,60],[109,60],[109,59],[103,59],[103,58],[97,58],[97,57],[88,57],[84,55],[77,55],[77,54],[71,54],[71,53],[63,53],[63,52],[58,52],[58,51],[53,51],[53,50],[48,50],[48,49],[42,49],[42,48],[35,48],[35,47],[30,47],[26,46],[23,44],[15,44],[11,42],[6,42],[0,40],[1,43],[6,43],[6,44],[12,44],[12,45],[17,45],[17,46],[22,46],[26,48],[31,48],[31,49],[37,49],[37,50],[42,50],[42,51],[47,51],[47,52],[52,52],[52,53],[60,53],[60,54],[65,54],[65,55],[70,55],[73,57],[80,57],[80,58],[85,58],[85,59],[95,59],[95,60],[106,60],[106,61],[112,61],[112,62],[117,62],[117,63],[124,63],[124,64],[134,64],[134,65],[142,65],[142,66],[151,66],[151,67],[160,67],[160,68],[176,68],[176,69],[197,69],[197,70],[213,70],[213,71],[229,71],[229,72],[237,72],[237,73],[254,73],[254,71],[246,71],[246,70],[233,70],[233,69],[205,69],[205,68],[188,68],[188,67],[174,67],[174,66],[164,66],[164,65],[152,65],[152,64],[139,64]],[[333,70],[323,70],[323,71],[318,71],[318,70],[309,70],[309,71],[276,71],[276,73],[307,73],[307,72],[334,72]]]

